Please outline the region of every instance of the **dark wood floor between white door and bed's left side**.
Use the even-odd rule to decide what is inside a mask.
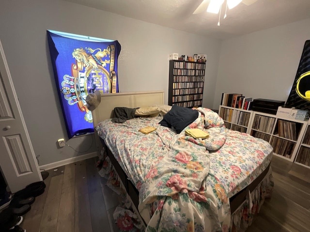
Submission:
[[[95,159],[48,172],[47,188],[25,215],[23,229],[27,232],[117,231],[113,230],[114,223],[109,222],[113,221],[111,215],[119,199],[98,175]]]

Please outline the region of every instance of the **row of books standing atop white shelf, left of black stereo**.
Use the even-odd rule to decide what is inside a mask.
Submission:
[[[246,98],[240,93],[222,93],[221,105],[249,110],[252,98]]]

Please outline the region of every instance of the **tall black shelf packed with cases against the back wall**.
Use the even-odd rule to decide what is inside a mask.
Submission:
[[[202,106],[205,63],[169,61],[169,105]]]

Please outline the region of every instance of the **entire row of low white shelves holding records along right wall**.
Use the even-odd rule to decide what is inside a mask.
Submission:
[[[310,122],[223,105],[218,115],[227,129],[263,139],[275,156],[310,168]]]

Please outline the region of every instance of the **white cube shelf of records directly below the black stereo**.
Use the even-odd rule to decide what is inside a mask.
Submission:
[[[274,155],[294,161],[307,123],[253,111],[249,134],[269,142],[274,149]]]

